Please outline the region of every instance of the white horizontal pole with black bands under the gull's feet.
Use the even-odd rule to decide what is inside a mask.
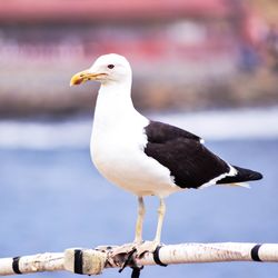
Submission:
[[[140,267],[219,261],[278,262],[278,244],[181,244],[157,248],[138,258],[136,251],[115,254],[119,247],[71,248],[64,252],[46,252],[0,259],[0,276],[39,271],[68,270],[99,275],[105,268]],[[125,264],[126,262],[126,264]]]

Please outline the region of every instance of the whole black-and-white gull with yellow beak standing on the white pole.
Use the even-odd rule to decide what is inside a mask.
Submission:
[[[116,186],[138,197],[135,241],[143,251],[160,245],[165,198],[186,189],[212,185],[245,186],[262,175],[232,166],[205,147],[203,140],[178,127],[152,121],[131,100],[132,71],[116,53],[100,56],[87,70],[72,76],[70,86],[100,82],[90,141],[92,162]],[[142,241],[143,197],[160,200],[155,239]]]

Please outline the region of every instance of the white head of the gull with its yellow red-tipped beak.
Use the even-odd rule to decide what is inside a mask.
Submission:
[[[80,85],[88,80],[97,80],[101,85],[130,81],[131,68],[123,56],[103,54],[89,69],[76,73],[70,80],[70,86]]]

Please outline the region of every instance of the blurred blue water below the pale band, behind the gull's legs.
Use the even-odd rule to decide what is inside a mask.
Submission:
[[[210,187],[167,199],[165,244],[278,242],[278,140],[216,140],[207,146],[231,163],[260,170],[251,189]],[[133,239],[136,198],[106,181],[87,147],[0,148],[0,257]],[[145,239],[152,239],[158,200],[146,198]],[[278,277],[277,264],[222,262],[146,267],[141,277]],[[30,277],[73,277],[69,272]],[[75,276],[76,277],[76,276]],[[130,277],[105,270],[102,277]]]

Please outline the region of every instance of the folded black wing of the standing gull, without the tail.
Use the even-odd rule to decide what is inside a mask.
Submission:
[[[150,121],[145,130],[148,137],[146,155],[167,167],[175,183],[181,188],[198,188],[230,171],[230,167],[209,151],[196,135],[158,121]]]

